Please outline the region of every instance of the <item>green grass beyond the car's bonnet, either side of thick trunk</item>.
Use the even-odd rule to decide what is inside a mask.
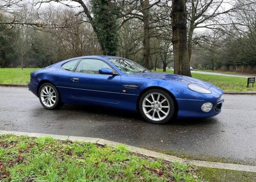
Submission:
[[[174,71],[168,69],[166,70],[166,72],[163,72],[161,69],[158,69],[157,72],[173,74]],[[192,73],[192,76],[196,79],[212,83],[225,91],[256,91],[256,86],[252,87],[251,84],[250,87],[247,88],[247,79],[243,77],[220,76],[199,73]]]

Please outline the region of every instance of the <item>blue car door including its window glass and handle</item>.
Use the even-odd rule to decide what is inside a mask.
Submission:
[[[80,100],[118,103],[121,77],[118,74],[99,74],[101,68],[113,69],[102,60],[82,59],[70,75],[72,97]]]

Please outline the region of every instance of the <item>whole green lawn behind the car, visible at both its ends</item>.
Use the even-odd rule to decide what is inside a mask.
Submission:
[[[30,72],[39,68],[0,68],[0,83],[1,84],[27,84],[30,80]],[[157,72],[173,73],[173,70],[168,69],[163,72],[158,69]],[[225,91],[256,91],[256,87],[247,88],[247,79],[243,77],[219,76],[210,74],[192,73],[192,76],[212,84],[217,85]]]

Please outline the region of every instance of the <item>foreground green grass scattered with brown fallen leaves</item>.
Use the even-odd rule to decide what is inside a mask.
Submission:
[[[0,135],[0,181],[202,181],[191,164],[145,158],[125,147]]]

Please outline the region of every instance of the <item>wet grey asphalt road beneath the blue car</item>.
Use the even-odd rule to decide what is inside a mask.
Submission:
[[[0,87],[0,129],[97,137],[195,158],[256,165],[256,95],[224,95],[220,115],[158,125],[135,113],[65,105],[44,109],[26,88]]]

